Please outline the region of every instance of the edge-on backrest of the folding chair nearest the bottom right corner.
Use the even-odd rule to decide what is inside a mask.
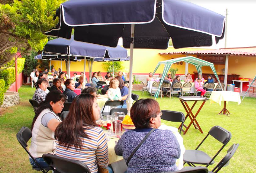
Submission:
[[[233,144],[228,150],[227,154],[223,157],[223,159],[213,168],[213,172],[217,173],[220,171],[222,167],[229,165],[229,160],[233,157],[234,153],[236,152],[237,148],[239,147],[239,144]]]

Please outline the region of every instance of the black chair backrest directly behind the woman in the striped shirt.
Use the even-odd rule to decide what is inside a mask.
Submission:
[[[53,154],[43,154],[43,159],[51,168],[55,168],[61,173],[90,173],[88,166],[82,162]]]

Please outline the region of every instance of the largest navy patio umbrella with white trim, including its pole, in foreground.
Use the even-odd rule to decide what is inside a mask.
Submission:
[[[225,17],[182,0],[69,0],[56,11],[59,23],[46,35],[76,41],[117,46],[123,38],[130,48],[132,80],[133,48],[167,49],[211,46],[224,37]],[[135,32],[134,32],[135,30]],[[132,106],[129,83],[128,113]]]

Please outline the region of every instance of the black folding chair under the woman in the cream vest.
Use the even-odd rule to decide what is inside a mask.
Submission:
[[[47,173],[49,170],[51,170],[50,167],[42,168],[40,164],[36,161],[36,159],[32,156],[32,154],[27,149],[27,141],[32,137],[32,132],[28,127],[22,127],[20,131],[16,134],[16,137],[20,143],[20,145],[24,148],[24,150],[27,152],[27,154],[31,157],[31,159],[36,163],[38,168],[32,166],[32,169],[36,171],[42,171],[43,173]]]

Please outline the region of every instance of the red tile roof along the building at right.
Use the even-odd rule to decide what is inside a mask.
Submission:
[[[166,52],[159,53],[160,55],[171,54],[217,54],[217,55],[242,55],[242,56],[256,56],[256,53],[232,51],[228,49],[209,49],[209,50],[197,50],[197,51],[184,51],[184,52]]]

